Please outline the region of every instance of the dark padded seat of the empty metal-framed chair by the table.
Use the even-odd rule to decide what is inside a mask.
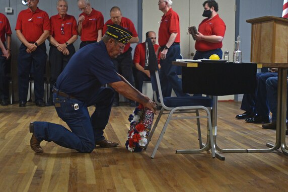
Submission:
[[[184,106],[204,106],[212,107],[213,100],[202,96],[193,97],[167,97],[163,98],[164,104],[169,108],[184,107]]]

